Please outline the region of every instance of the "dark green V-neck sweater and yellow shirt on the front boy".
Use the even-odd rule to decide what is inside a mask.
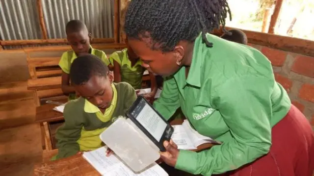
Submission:
[[[57,129],[55,135],[58,148],[56,159],[104,146],[99,135],[119,116],[125,116],[136,100],[135,90],[128,83],[113,83],[112,89],[113,99],[105,113],[82,97],[65,105],[65,123]]]

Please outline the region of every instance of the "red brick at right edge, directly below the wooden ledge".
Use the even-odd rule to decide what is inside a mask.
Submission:
[[[298,55],[292,65],[291,71],[297,74],[314,77],[314,57]]]

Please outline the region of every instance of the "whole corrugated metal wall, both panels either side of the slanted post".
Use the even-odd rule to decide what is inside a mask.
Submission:
[[[42,0],[48,38],[66,38],[69,20],[83,21],[96,38],[113,38],[114,0]],[[41,39],[36,0],[0,0],[0,40]]]

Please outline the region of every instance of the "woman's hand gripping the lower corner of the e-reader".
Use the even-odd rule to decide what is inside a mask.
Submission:
[[[172,139],[170,142],[163,142],[163,146],[166,151],[160,152],[160,158],[169,166],[175,167],[179,156],[178,146],[172,141]]]

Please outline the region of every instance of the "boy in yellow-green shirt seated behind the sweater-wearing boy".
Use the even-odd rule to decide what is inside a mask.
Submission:
[[[93,49],[90,46],[91,33],[88,32],[87,27],[83,22],[79,20],[71,20],[67,23],[65,31],[72,50],[64,52],[59,62],[59,66],[62,69],[61,89],[65,95],[69,96],[69,100],[74,100],[77,97],[69,79],[72,62],[78,56],[87,53],[98,56],[106,65],[109,65],[110,62],[104,51]]]

